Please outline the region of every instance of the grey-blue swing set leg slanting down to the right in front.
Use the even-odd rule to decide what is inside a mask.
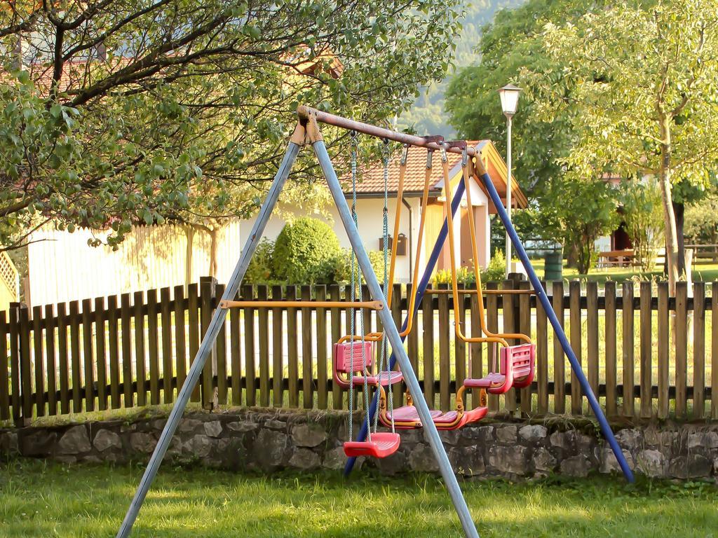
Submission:
[[[394,354],[396,354],[399,366],[401,367],[401,372],[404,373],[404,381],[406,381],[406,384],[409,386],[409,392],[411,392],[411,396],[414,398],[414,405],[416,406],[416,410],[419,412],[421,424],[424,425],[424,432],[429,438],[429,445],[431,445],[432,450],[434,451],[434,456],[437,458],[437,462],[439,463],[439,470],[441,471],[444,481],[447,484],[449,495],[452,498],[457,514],[459,514],[464,534],[466,534],[467,538],[479,538],[474,522],[471,519],[466,499],[464,499],[461,492],[459,482],[454,475],[451,463],[449,463],[449,458],[447,457],[446,450],[444,450],[442,440],[439,438],[439,432],[437,431],[437,427],[434,425],[432,415],[429,412],[429,407],[424,401],[424,395],[421,393],[419,380],[416,379],[414,369],[411,368],[409,357],[407,357],[404,344],[401,342],[401,336],[399,336],[398,329],[396,329],[396,325],[391,317],[391,311],[386,304],[386,300],[384,300],[381,286],[379,285],[376,275],[374,274],[374,270],[371,267],[369,257],[359,235],[359,230],[357,230],[357,227],[354,224],[347,200],[344,197],[339,179],[337,179],[337,174],[334,171],[334,166],[332,166],[332,161],[329,158],[329,154],[327,154],[327,148],[322,141],[314,142],[312,147],[314,148],[314,153],[317,155],[317,159],[319,159],[320,166],[322,166],[322,171],[327,179],[327,185],[329,185],[329,189],[332,192],[332,198],[334,198],[337,211],[339,212],[344,229],[349,236],[349,241],[356,254],[362,273],[364,274],[371,296],[374,299],[381,299],[384,303],[384,308],[378,311],[378,316],[381,319],[381,324],[388,336],[389,343],[391,344],[391,350]]]

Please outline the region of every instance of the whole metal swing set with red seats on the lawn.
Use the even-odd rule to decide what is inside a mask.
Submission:
[[[279,166],[279,170],[274,176],[274,181],[267,193],[267,197],[258,212],[256,221],[252,227],[251,232],[248,235],[246,245],[244,246],[240,258],[236,264],[236,267],[228,280],[227,286],[219,303],[219,308],[216,308],[210,324],[205,331],[205,336],[202,338],[195,359],[192,361],[192,367],[187,372],[187,379],[182,385],[180,392],[177,395],[177,400],[172,407],[172,411],[169,413],[167,423],[164,425],[162,434],[159,437],[157,446],[152,453],[147,468],[144,471],[144,475],[141,478],[138,489],[134,494],[129,509],[123,519],[121,527],[119,528],[116,537],[126,538],[129,536],[131,529],[136,521],[144,499],[146,498],[147,492],[151,486],[154,477],[157,476],[159,466],[162,463],[169,444],[172,441],[172,435],[174,435],[177,426],[182,418],[182,413],[187,406],[187,402],[190,400],[192,391],[194,390],[202,368],[205,365],[208,357],[210,356],[215,341],[220,334],[220,331],[225,326],[225,318],[229,308],[243,308],[247,306],[262,307],[262,306],[291,306],[294,308],[301,308],[308,305],[308,301],[236,301],[235,298],[238,293],[239,286],[242,283],[244,275],[246,273],[249,262],[254,254],[257,245],[259,244],[261,237],[266,228],[267,222],[271,217],[271,213],[276,207],[279,194],[283,189],[286,181],[289,177],[289,173],[292,170],[297,154],[299,150],[304,146],[311,146],[314,151],[317,160],[319,161],[322,169],[322,174],[327,181],[327,187],[329,187],[332,199],[337,207],[340,220],[344,226],[349,241],[353,250],[352,258],[352,286],[350,293],[350,301],[312,301],[312,306],[322,306],[325,308],[344,307],[355,309],[352,314],[357,310],[359,313],[363,313],[363,309],[368,308],[376,312],[378,321],[381,322],[383,331],[381,333],[366,333],[363,321],[360,322],[359,330],[357,331],[353,321],[350,322],[350,334],[340,339],[334,346],[333,353],[333,377],[335,382],[341,387],[344,387],[349,392],[350,406],[353,410],[353,392],[357,388],[362,389],[364,408],[365,408],[365,420],[363,420],[362,428],[355,440],[350,440],[345,443],[345,453],[350,456],[345,473],[351,470],[356,456],[375,456],[378,458],[386,457],[391,453],[396,452],[401,438],[396,430],[406,428],[424,428],[424,437],[428,440],[429,445],[432,448],[434,456],[437,458],[439,471],[442,473],[444,482],[446,483],[449,496],[451,496],[454,508],[457,511],[457,515],[460,519],[462,529],[468,538],[478,538],[475,524],[472,520],[468,506],[462,495],[459,483],[456,476],[454,475],[453,468],[447,457],[446,450],[442,444],[441,438],[439,438],[438,430],[455,430],[462,428],[468,423],[480,420],[486,414],[485,401],[480,402],[482,405],[472,410],[465,410],[463,404],[463,394],[465,390],[480,390],[482,399],[485,400],[485,393],[501,394],[510,389],[510,387],[526,387],[531,383],[533,379],[533,360],[534,360],[534,347],[531,344],[531,340],[528,336],[523,334],[494,334],[488,331],[485,320],[484,311],[482,305],[482,297],[484,293],[488,291],[482,291],[480,275],[478,269],[475,266],[476,276],[476,288],[472,292],[478,296],[478,304],[480,306],[480,320],[481,320],[481,334],[482,336],[465,336],[460,326],[455,327],[456,336],[462,341],[466,341],[469,344],[479,344],[488,342],[494,344],[494,346],[500,345],[501,351],[499,354],[498,364],[494,360],[493,372],[488,374],[486,377],[480,379],[465,379],[457,391],[457,405],[455,410],[450,412],[441,412],[437,410],[430,410],[424,396],[421,392],[421,386],[419,380],[416,379],[416,374],[411,368],[409,357],[404,349],[403,340],[412,329],[414,316],[418,305],[421,302],[421,298],[424,296],[426,287],[429,283],[429,275],[431,275],[434,265],[437,262],[439,253],[441,252],[442,246],[449,236],[449,247],[451,251],[451,265],[452,265],[452,296],[454,300],[454,308],[458,308],[459,304],[459,292],[457,290],[456,282],[456,265],[454,260],[454,248],[453,248],[453,217],[454,212],[459,207],[462,196],[464,193],[467,195],[467,202],[470,204],[470,189],[468,188],[469,178],[473,176],[476,181],[480,181],[490,199],[496,207],[500,219],[503,221],[506,230],[516,247],[516,253],[521,259],[528,278],[531,281],[533,290],[536,293],[537,301],[541,303],[546,311],[546,316],[549,318],[551,325],[554,327],[556,332],[556,338],[560,341],[564,352],[572,365],[574,374],[576,375],[579,383],[582,387],[583,394],[587,397],[589,405],[597,417],[603,435],[607,439],[610,447],[615,454],[615,457],[620,464],[625,477],[628,481],[633,481],[633,473],[628,467],[628,463],[625,461],[623,452],[620,450],[615,437],[607,423],[605,415],[588,384],[588,381],[581,369],[581,365],[578,362],[574,351],[571,349],[569,341],[564,333],[558,318],[551,308],[548,296],[544,288],[541,286],[541,282],[538,280],[536,273],[531,267],[531,263],[528,260],[526,251],[521,245],[521,241],[516,234],[516,230],[508,219],[508,214],[502,205],[501,199],[496,191],[493,183],[486,173],[481,159],[478,158],[477,150],[470,146],[467,146],[465,142],[445,142],[440,137],[421,137],[408,135],[406,133],[397,133],[389,129],[380,128],[377,126],[371,126],[366,123],[360,123],[353,121],[348,118],[342,118],[341,116],[333,115],[330,113],[308,108],[306,106],[300,106],[297,109],[297,115],[299,121],[297,127],[294,130],[289,144],[284,154],[284,159]],[[327,125],[335,126],[338,128],[345,128],[348,131],[354,131],[355,133],[363,133],[368,136],[374,136],[380,140],[386,141],[383,147],[383,161],[384,161],[384,214],[383,214],[383,232],[384,232],[384,260],[385,260],[385,271],[383,287],[380,285],[376,278],[376,274],[373,271],[369,257],[365,250],[365,247],[361,241],[360,234],[358,231],[358,222],[356,217],[356,146],[354,146],[353,158],[352,158],[352,171],[353,171],[353,209],[347,204],[345,194],[342,192],[342,187],[337,174],[335,173],[334,166],[330,160],[327,148],[324,144],[322,132],[320,131],[319,124],[325,123]],[[355,137],[354,137],[355,138]],[[427,171],[426,179],[424,181],[424,194],[422,204],[422,215],[421,215],[421,231],[419,234],[419,241],[424,233],[424,222],[426,220],[426,199],[428,197],[428,177],[432,166],[432,154],[434,151],[441,153],[442,159],[442,170],[444,174],[444,187],[447,190],[447,202],[446,202],[446,222],[439,232],[437,242],[434,245],[431,255],[429,256],[429,262],[424,269],[424,273],[416,286],[414,295],[410,298],[409,302],[409,313],[401,326],[401,331],[396,326],[391,311],[389,311],[388,304],[391,301],[391,284],[393,283],[394,268],[396,267],[396,242],[392,242],[391,245],[391,263],[389,262],[390,255],[386,245],[388,245],[388,193],[386,189],[386,183],[388,178],[388,141],[395,141],[404,144],[404,154],[401,160],[401,180],[400,180],[400,192],[398,192],[397,203],[401,201],[404,187],[404,174],[406,173],[406,156],[409,151],[409,147],[425,148],[427,151]],[[449,202],[449,195],[451,191],[451,185],[449,183],[449,169],[447,164],[447,152],[454,154],[460,154],[462,156],[462,175],[463,181],[457,186],[454,199]],[[475,159],[472,159],[475,158]],[[394,222],[395,233],[393,237],[398,237],[398,226],[399,226],[399,211],[396,211],[396,219]],[[470,218],[472,214],[469,212]],[[471,222],[470,228],[472,230],[472,249],[474,260],[477,260],[477,245],[476,237],[473,233],[474,226]],[[414,281],[419,273],[417,273],[417,265],[419,260],[416,260],[414,265]],[[386,265],[389,265],[389,271],[387,274]],[[476,264],[475,264],[476,265]],[[356,296],[356,288],[360,282],[360,275],[363,275],[368,291],[370,293],[370,301],[360,301]],[[505,293],[505,292],[504,292]],[[354,316],[350,316],[353,320]],[[360,316],[363,320],[364,316]],[[523,344],[509,345],[508,339],[520,339],[523,340]],[[378,372],[374,372],[373,360],[374,346],[378,345],[379,351],[379,365]],[[391,354],[388,350],[391,348]],[[398,363],[398,370],[395,370],[396,364]],[[398,382],[406,383],[407,388],[407,402],[406,405],[401,407],[393,408],[393,384]],[[374,394],[371,403],[369,402],[370,390],[374,389]],[[388,389],[388,397],[386,390]],[[381,405],[380,405],[381,400]],[[381,408],[381,412],[377,413],[377,408]],[[351,414],[350,414],[351,415]],[[381,420],[383,425],[391,428],[391,432],[384,433],[377,430],[378,420]],[[373,421],[373,430],[371,433],[369,426]],[[352,420],[350,420],[350,425]],[[353,437],[350,435],[350,437]]]

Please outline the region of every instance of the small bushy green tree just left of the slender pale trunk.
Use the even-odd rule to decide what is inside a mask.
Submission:
[[[653,178],[624,181],[620,198],[625,231],[633,243],[635,260],[641,270],[648,272],[653,268],[658,247],[665,241],[661,192]]]

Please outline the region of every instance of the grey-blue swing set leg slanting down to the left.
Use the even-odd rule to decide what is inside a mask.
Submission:
[[[276,176],[274,176],[274,182],[269,189],[269,194],[267,194],[266,200],[259,210],[257,220],[252,227],[252,231],[249,234],[246,245],[244,246],[237,265],[234,268],[234,272],[227,283],[227,288],[222,296],[223,299],[231,300],[237,295],[239,285],[244,278],[244,273],[246,273],[247,266],[252,259],[252,255],[254,254],[257,245],[259,244],[259,240],[261,240],[264,227],[266,227],[266,223],[269,221],[269,217],[271,217],[272,210],[276,205],[281,189],[284,187],[286,178],[289,177],[289,171],[292,170],[292,165],[294,164],[294,159],[297,158],[299,149],[300,146],[294,142],[290,142],[289,147],[286,148],[286,154],[284,154],[284,159],[281,161],[281,165],[279,166]],[[174,403],[172,412],[169,413],[167,424],[164,425],[162,435],[159,436],[157,446],[154,448],[151,458],[149,458],[149,463],[144,471],[142,480],[137,487],[137,491],[132,499],[129,509],[127,510],[127,514],[125,514],[125,519],[123,519],[122,525],[117,532],[117,538],[128,537],[132,530],[132,525],[134,524],[135,519],[137,519],[137,514],[139,513],[139,509],[142,507],[142,503],[147,495],[149,486],[151,486],[154,477],[157,475],[159,465],[162,463],[162,458],[164,458],[164,453],[166,453],[167,448],[169,448],[169,442],[172,440],[174,430],[177,430],[177,425],[180,423],[182,413],[185,411],[185,407],[187,407],[187,402],[190,400],[192,390],[194,390],[195,385],[197,384],[197,379],[200,379],[202,367],[204,367],[207,357],[209,356],[210,351],[212,351],[212,347],[217,339],[220,329],[224,324],[226,316],[227,311],[224,308],[215,309],[215,313],[212,316],[212,321],[210,321],[207,333],[204,338],[202,338],[200,349],[197,350],[195,362],[192,363],[192,368],[190,368],[190,372],[187,374],[185,384],[182,385],[180,394],[177,395],[177,402]]]

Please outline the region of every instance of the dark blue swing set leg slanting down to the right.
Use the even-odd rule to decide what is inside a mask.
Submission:
[[[572,349],[571,344],[569,344],[569,340],[566,337],[566,333],[564,333],[564,329],[561,327],[561,324],[559,324],[559,318],[556,318],[556,313],[554,312],[554,308],[551,306],[549,296],[546,295],[544,286],[541,285],[541,280],[538,280],[538,276],[536,276],[536,271],[533,270],[533,266],[528,260],[526,250],[523,248],[523,245],[521,244],[521,239],[518,238],[516,229],[513,227],[508,218],[508,213],[503,207],[501,198],[499,197],[498,192],[496,192],[496,188],[494,187],[489,174],[484,172],[481,175],[481,181],[483,182],[484,187],[486,187],[486,191],[488,192],[489,197],[494,203],[498,212],[498,216],[503,222],[503,225],[506,227],[508,235],[510,235],[511,237],[511,242],[513,243],[514,248],[516,248],[516,254],[521,260],[521,263],[523,263],[523,268],[526,269],[528,280],[531,280],[531,285],[536,291],[536,297],[538,298],[538,301],[541,301],[541,306],[544,307],[546,316],[549,318],[549,321],[551,321],[551,326],[554,327],[556,338],[559,339],[559,341],[561,342],[561,347],[564,348],[564,353],[566,354],[566,357],[568,357],[569,362],[571,363],[571,367],[574,371],[574,374],[576,374],[576,378],[579,380],[579,384],[581,384],[581,389],[583,390],[584,395],[586,395],[586,398],[589,402],[589,405],[591,406],[591,409],[593,410],[594,415],[596,415],[596,418],[598,419],[598,423],[601,426],[603,436],[606,438],[608,444],[611,446],[611,449],[616,456],[616,460],[618,461],[618,464],[620,465],[621,471],[623,471],[623,475],[625,476],[626,480],[628,480],[629,482],[633,482],[633,472],[628,467],[628,462],[623,456],[623,451],[621,450],[620,446],[618,446],[616,438],[613,435],[613,431],[608,424],[608,420],[606,420],[606,415],[603,414],[603,410],[601,409],[601,406],[596,399],[596,395],[593,393],[593,391],[591,390],[591,386],[588,384],[588,380],[584,375],[583,369],[581,368],[581,364],[578,362],[578,359],[576,358],[576,354],[574,354],[574,350]]]

